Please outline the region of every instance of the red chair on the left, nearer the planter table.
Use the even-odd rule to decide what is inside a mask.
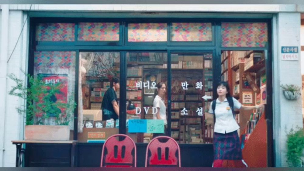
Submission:
[[[117,137],[124,137],[125,139],[119,141],[116,139]],[[105,150],[107,150],[107,154],[105,154]],[[102,147],[100,167],[136,167],[134,141],[124,134],[110,136]]]

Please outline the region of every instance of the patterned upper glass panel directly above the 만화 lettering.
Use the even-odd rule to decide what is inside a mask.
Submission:
[[[211,23],[172,23],[171,41],[204,42],[212,41]]]

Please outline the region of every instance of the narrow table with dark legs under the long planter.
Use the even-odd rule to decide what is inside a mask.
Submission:
[[[40,140],[17,140],[12,141],[16,145],[16,167],[22,167],[22,161],[24,159],[24,154],[26,149],[22,148],[22,144],[71,144],[71,167],[75,165],[75,147],[77,141],[40,141]]]

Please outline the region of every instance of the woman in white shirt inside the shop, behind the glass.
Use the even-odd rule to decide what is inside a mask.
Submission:
[[[155,91],[155,98],[153,101],[153,107],[157,108],[157,113],[153,114],[153,119],[162,119],[164,120],[164,128],[166,130],[167,127],[167,115],[166,115],[166,105],[165,105],[165,97],[166,97],[166,84],[163,82],[160,82],[157,84],[157,89]],[[165,132],[163,134],[153,134],[154,137],[165,135]]]

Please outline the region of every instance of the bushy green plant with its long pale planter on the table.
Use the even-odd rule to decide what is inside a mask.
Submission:
[[[26,101],[26,105],[17,108],[26,118],[25,139],[69,140],[69,123],[74,118],[76,103],[73,98],[62,96],[64,84],[60,79],[47,82],[28,75],[29,85],[26,86],[14,74],[9,78],[16,83],[9,94]]]

